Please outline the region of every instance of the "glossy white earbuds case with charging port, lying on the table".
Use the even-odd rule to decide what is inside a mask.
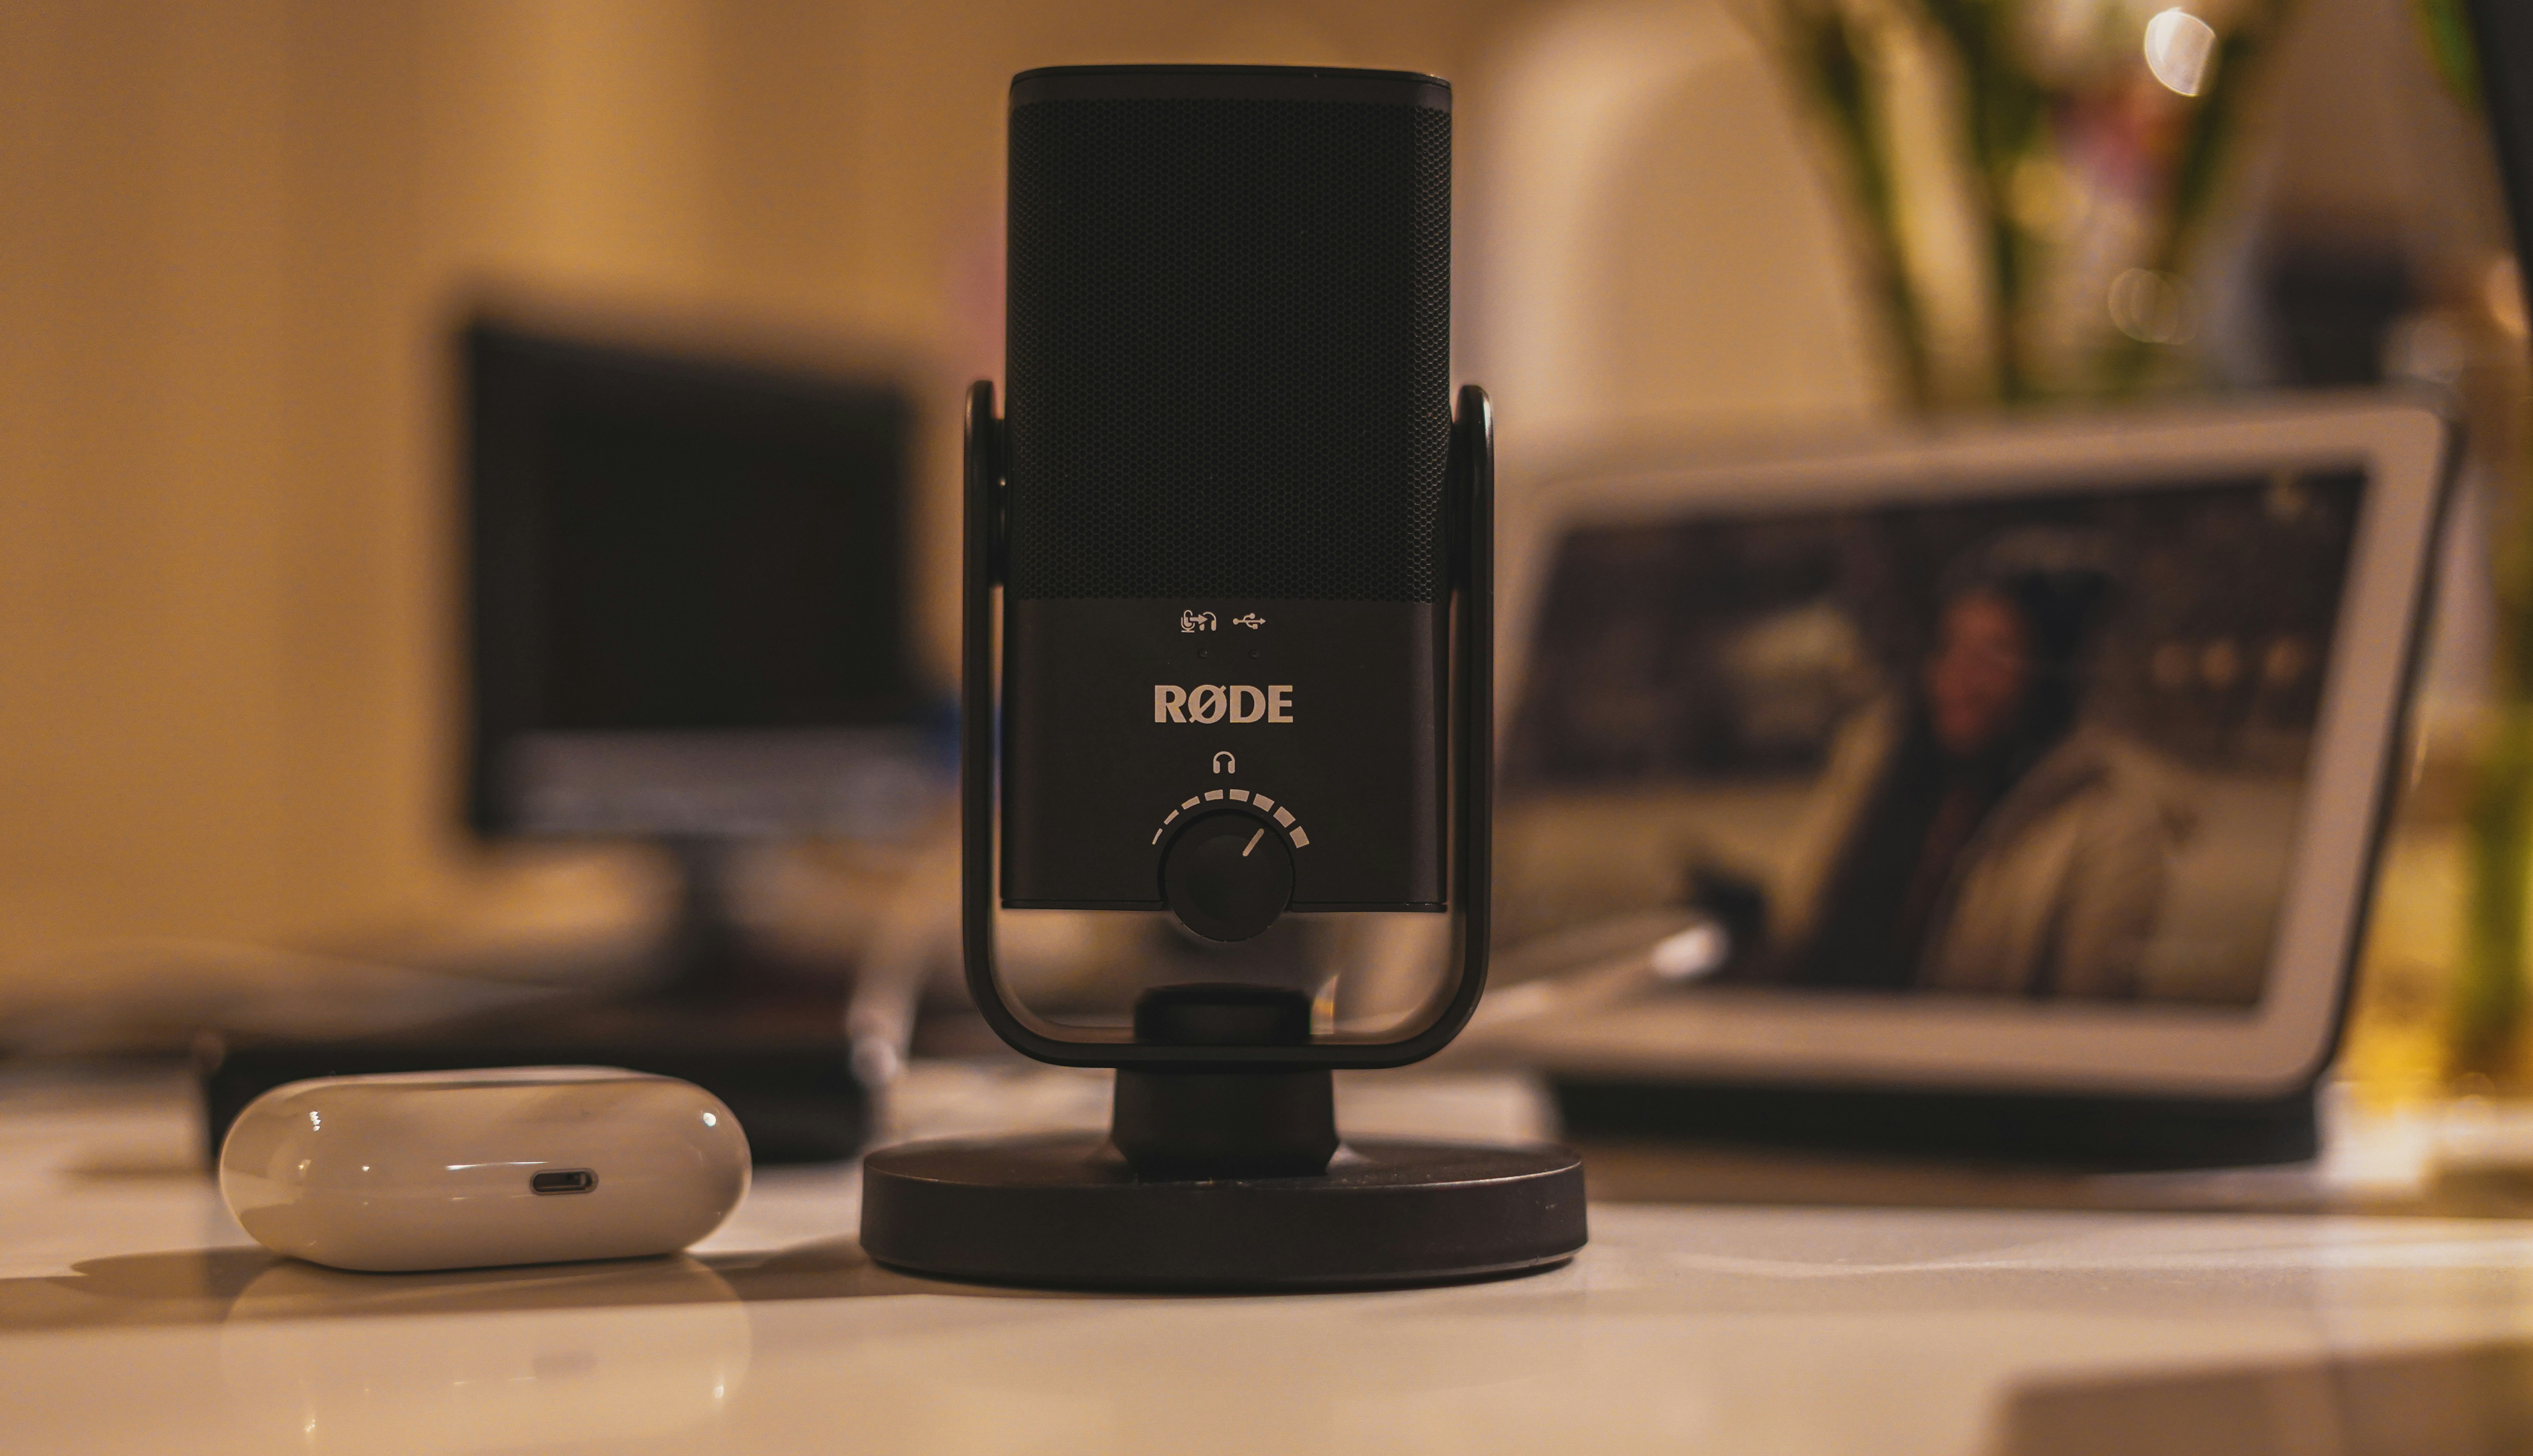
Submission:
[[[334,1269],[633,1258],[730,1218],[747,1134],[702,1086],[613,1066],[327,1076],[238,1114],[220,1198]]]

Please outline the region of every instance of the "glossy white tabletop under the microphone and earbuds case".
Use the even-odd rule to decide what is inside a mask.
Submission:
[[[930,1069],[899,1119],[1102,1101]],[[1472,1079],[1342,1104],[1535,1117]],[[2039,1451],[2037,1390],[2533,1337],[2533,1221],[1603,1203],[1530,1279],[1125,1299],[874,1269],[849,1170],[760,1177],[679,1261],[362,1276],[253,1248],[195,1137],[172,1076],[0,1076],[0,1451]],[[2262,1410],[2227,1448],[2373,1448]]]

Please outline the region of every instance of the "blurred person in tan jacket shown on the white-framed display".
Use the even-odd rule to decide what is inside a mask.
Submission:
[[[1839,729],[1768,896],[1768,980],[2135,998],[2189,810],[2080,717],[2110,572],[2009,532],[1945,575],[1915,681]]]

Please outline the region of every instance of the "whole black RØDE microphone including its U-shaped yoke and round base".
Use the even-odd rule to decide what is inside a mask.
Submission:
[[[985,1023],[1115,1066],[1115,1117],[1107,1137],[874,1152],[871,1258],[1345,1289],[1583,1246],[1570,1150],[1337,1157],[1332,1069],[1431,1056],[1487,980],[1494,425],[1484,390],[1456,410],[1449,390],[1449,228],[1451,89],[1431,76],[1013,81],[1006,418],[990,382],[968,390],[960,942]],[[1365,1026],[1332,982],[1221,975],[1274,942],[1173,947],[1130,1026],[1059,1020],[1006,982],[998,904],[1168,909],[1216,942],[1284,912],[1449,912],[1451,960],[1403,1020]]]

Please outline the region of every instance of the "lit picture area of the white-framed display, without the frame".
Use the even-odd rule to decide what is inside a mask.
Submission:
[[[2262,998],[2358,471],[1786,511],[1553,555],[1500,939],[1644,912],[1707,982]]]

